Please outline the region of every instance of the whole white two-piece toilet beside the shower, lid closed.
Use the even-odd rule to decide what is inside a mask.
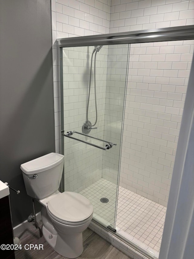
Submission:
[[[59,254],[76,258],[83,252],[82,232],[89,226],[92,203],[74,192],[59,192],[64,156],[50,153],[21,165],[27,194],[42,204],[42,233]]]

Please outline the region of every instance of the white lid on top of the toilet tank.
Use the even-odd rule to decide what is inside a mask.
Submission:
[[[56,165],[59,165],[62,161],[64,161],[64,155],[49,153],[22,164],[20,168],[22,169],[22,172],[30,175],[51,169]]]

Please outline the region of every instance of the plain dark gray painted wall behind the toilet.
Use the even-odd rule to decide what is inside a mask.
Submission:
[[[21,191],[10,190],[13,226],[32,213],[20,164],[55,152],[54,130],[50,0],[1,0],[0,180]]]

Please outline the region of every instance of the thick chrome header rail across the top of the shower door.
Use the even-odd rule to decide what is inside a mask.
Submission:
[[[176,26],[162,29],[149,29],[133,32],[117,32],[109,34],[57,39],[58,47],[77,47],[95,45],[114,45],[131,43],[148,43],[162,41],[191,40],[194,25]]]

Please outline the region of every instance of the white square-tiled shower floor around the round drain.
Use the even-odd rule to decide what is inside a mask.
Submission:
[[[114,222],[116,185],[99,179],[80,192],[93,204],[94,219],[108,226]],[[101,203],[106,197],[108,203]],[[119,186],[116,217],[117,233],[140,248],[159,255],[166,207]]]

